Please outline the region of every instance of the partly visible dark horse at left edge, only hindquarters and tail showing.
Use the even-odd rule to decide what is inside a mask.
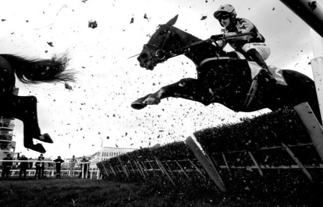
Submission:
[[[45,153],[33,139],[53,143],[50,136],[41,134],[37,119],[37,99],[34,96],[16,96],[15,75],[27,84],[75,82],[75,72],[66,70],[67,54],[52,59],[28,59],[12,54],[0,54],[0,116],[13,117],[23,122],[24,146]]]

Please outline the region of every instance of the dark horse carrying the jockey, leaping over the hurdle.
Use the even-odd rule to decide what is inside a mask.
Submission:
[[[170,57],[184,54],[196,65],[197,79],[184,78],[161,87],[131,104],[142,109],[147,104],[159,104],[161,99],[183,98],[202,104],[223,104],[234,111],[256,111],[263,108],[277,110],[308,102],[319,121],[320,109],[312,79],[293,70],[282,70],[286,85],[268,85],[259,82],[256,97],[248,108],[244,107],[250,85],[250,67],[246,59],[239,59],[236,52],[224,52],[211,41],[201,41],[173,25],[178,15],[166,24],[159,25],[137,58],[141,67],[153,70]]]

